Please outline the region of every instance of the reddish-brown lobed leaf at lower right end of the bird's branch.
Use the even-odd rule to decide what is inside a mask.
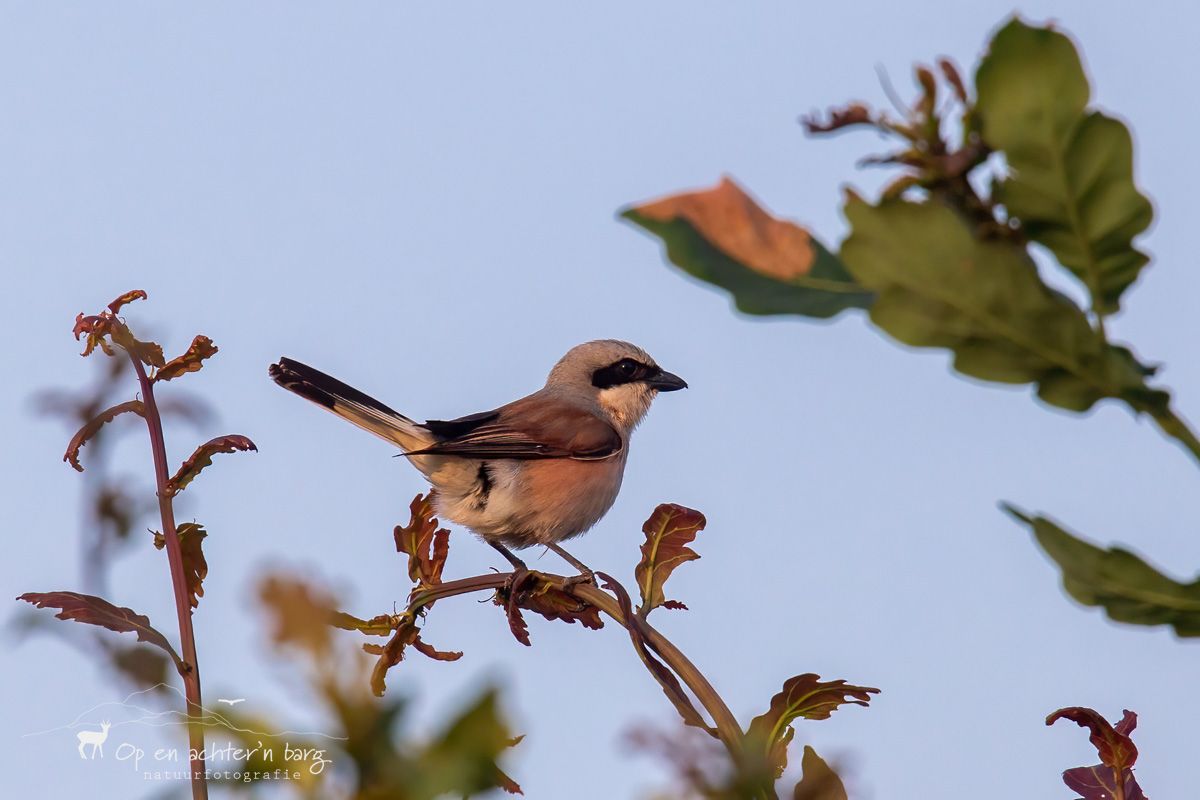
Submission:
[[[775,777],[787,766],[787,745],[792,741],[792,723],[805,720],[827,720],[847,703],[866,705],[880,690],[853,686],[844,680],[822,681],[820,675],[804,673],[784,681],[784,688],[770,698],[767,712],[750,721],[746,738],[754,747],[762,747]]]

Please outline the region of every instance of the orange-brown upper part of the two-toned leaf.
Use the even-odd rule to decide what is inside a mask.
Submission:
[[[770,216],[728,178],[710,190],[674,194],[632,210],[655,222],[683,219],[734,261],[775,279],[791,281],[812,269],[809,231]]]

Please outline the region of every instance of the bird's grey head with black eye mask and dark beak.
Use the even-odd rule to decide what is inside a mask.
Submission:
[[[686,389],[636,344],[586,342],[568,350],[550,371],[546,387],[595,402],[620,428],[632,431],[659,392]]]

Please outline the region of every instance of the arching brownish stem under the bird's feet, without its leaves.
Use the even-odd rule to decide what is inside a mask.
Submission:
[[[454,597],[456,595],[502,589],[508,583],[510,575],[510,572],[497,572],[494,575],[481,575],[473,578],[449,581],[436,587],[428,587],[414,593],[409,602],[409,609],[418,609],[424,606],[428,606],[436,600]],[[570,585],[566,584],[566,578],[563,576],[545,572],[539,575],[552,583],[560,584],[563,591],[572,597],[595,606],[622,627],[628,628],[629,625],[631,625],[631,621],[625,619],[625,615],[622,613],[620,606],[617,601],[596,587],[588,584]],[[713,720],[716,734],[720,736],[721,742],[725,745],[726,750],[730,751],[734,762],[739,763],[743,756],[742,741],[744,734],[742,732],[742,726],[738,724],[737,717],[734,717],[733,712],[730,711],[730,706],[726,705],[725,700],[721,699],[721,696],[716,693],[716,690],[713,688],[710,682],[708,682],[708,679],[704,678],[703,673],[696,668],[696,664],[694,664],[670,639],[650,626],[650,624],[644,619],[640,622],[638,628],[644,637],[646,643],[662,657],[662,661],[671,667],[684,685],[691,690],[691,693],[696,696],[700,704],[704,706],[704,710],[708,711],[708,715]]]

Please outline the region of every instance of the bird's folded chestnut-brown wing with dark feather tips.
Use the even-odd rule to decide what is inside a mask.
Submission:
[[[620,434],[595,414],[538,396],[458,420],[431,420],[425,427],[442,441],[409,456],[598,461],[624,446]]]

